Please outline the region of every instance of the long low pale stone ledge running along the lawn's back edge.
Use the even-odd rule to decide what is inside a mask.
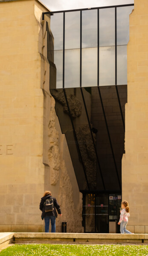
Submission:
[[[148,234],[99,233],[14,233],[15,244],[22,243],[113,243],[148,244]]]

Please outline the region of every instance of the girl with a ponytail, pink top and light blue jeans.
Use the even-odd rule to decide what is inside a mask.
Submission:
[[[121,207],[122,207],[122,211],[121,211],[120,219],[118,222],[118,225],[120,225],[120,232],[121,234],[124,234],[124,233],[133,234],[126,229],[126,225],[128,224],[128,217],[130,216],[130,213],[129,213],[130,208],[128,207],[128,202],[122,201]]]

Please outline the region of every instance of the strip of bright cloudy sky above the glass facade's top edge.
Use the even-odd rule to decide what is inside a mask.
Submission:
[[[52,12],[134,3],[134,0],[41,0]]]

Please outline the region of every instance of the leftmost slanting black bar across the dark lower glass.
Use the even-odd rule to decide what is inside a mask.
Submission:
[[[71,121],[72,127],[73,127],[73,133],[74,133],[74,137],[75,137],[75,143],[76,143],[76,145],[77,145],[78,154],[79,154],[79,156],[80,156],[80,158],[81,158],[81,163],[82,163],[82,166],[83,166],[83,170],[84,170],[84,175],[85,175],[87,187],[88,187],[88,190],[90,191],[90,186],[89,186],[89,183],[88,183],[88,180],[87,180],[87,175],[86,175],[86,171],[85,171],[85,166],[84,166],[84,163],[83,163],[83,159],[82,159],[82,156],[81,156],[81,151],[80,151],[80,148],[79,148],[79,145],[78,145],[78,139],[77,139],[76,132],[75,132],[75,127],[74,127],[74,124],[73,124],[73,118],[72,118],[71,113],[70,113],[70,107],[69,107],[69,104],[68,104],[67,95],[66,95],[66,92],[65,92],[65,89],[64,89],[64,88],[63,88],[63,92],[64,92],[64,96],[65,96],[65,100],[66,100],[66,104],[67,104],[67,108],[68,108],[68,112],[69,112],[69,116],[70,116],[70,121]]]

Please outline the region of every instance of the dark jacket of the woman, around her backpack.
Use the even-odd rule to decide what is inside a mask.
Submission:
[[[46,201],[46,199],[53,199],[53,204],[54,204],[54,210],[51,211],[51,212],[45,212],[45,206],[44,206],[44,203]],[[46,195],[44,196],[43,198],[41,198],[41,202],[40,202],[40,210],[42,211],[42,215],[41,215],[41,218],[42,220],[44,219],[45,216],[56,216],[56,218],[58,217],[58,214],[56,212],[56,209],[58,211],[58,214],[61,214],[61,209],[60,209],[60,206],[58,204],[58,202],[56,201],[55,198],[53,198],[51,195]]]

